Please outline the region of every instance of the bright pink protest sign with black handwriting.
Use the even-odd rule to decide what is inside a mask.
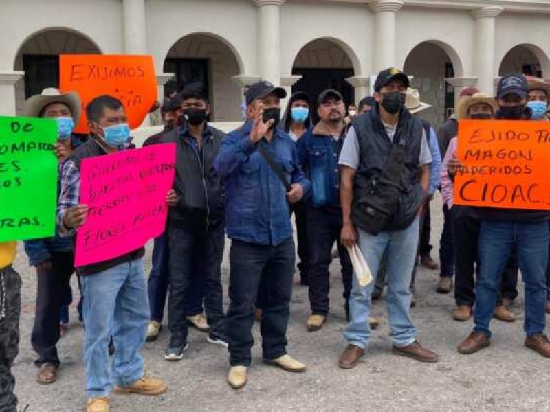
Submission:
[[[76,236],[76,267],[139,249],[164,231],[175,156],[175,144],[157,144],[82,162],[79,203],[88,217]]]

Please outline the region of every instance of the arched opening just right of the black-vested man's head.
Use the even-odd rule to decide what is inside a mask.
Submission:
[[[443,124],[454,111],[454,87],[445,78],[463,76],[458,54],[441,41],[424,41],[408,53],[403,70],[412,76],[411,87],[419,90],[422,102],[432,105],[419,117],[434,127]]]

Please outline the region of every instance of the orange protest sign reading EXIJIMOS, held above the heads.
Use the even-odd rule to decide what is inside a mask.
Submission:
[[[128,115],[130,128],[137,128],[157,100],[157,80],[152,56],[63,54],[59,56],[59,88],[76,91],[83,115],[76,133],[86,133],[86,106],[108,94],[118,98]]]

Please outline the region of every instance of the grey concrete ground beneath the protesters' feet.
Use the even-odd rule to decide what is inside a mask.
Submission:
[[[437,258],[441,233],[441,206],[432,203],[432,257]],[[151,245],[146,273],[151,266]],[[71,308],[69,332],[58,345],[62,367],[53,385],[36,384],[36,354],[30,345],[36,282],[20,249],[15,268],[23,277],[20,354],[14,366],[17,394],[28,412],[85,411],[83,330],[76,307]],[[456,352],[456,345],[470,333],[472,321],[451,318],[452,295],[439,295],[434,287],[437,271],[421,269],[417,279],[417,307],[412,317],[423,345],[439,352],[437,364],[423,364],[391,354],[384,299],[373,305],[382,325],[373,332],[367,356],[350,371],[337,366],[345,347],[342,284],[339,267],[331,266],[331,312],[318,332],[307,332],[307,288],[296,286],[289,324],[289,353],[307,364],[305,374],[289,374],[261,362],[258,345],[248,385],[233,391],[225,383],[228,354],[223,347],[206,343],[206,334],[192,330],[184,360],[164,361],[168,334],[147,343],[143,354],[148,370],[168,382],[168,393],[155,398],[113,396],[111,409],[136,411],[550,411],[550,361],[523,346],[523,293],[514,312],[515,323],[494,321],[492,346],[470,356]],[[227,253],[223,261],[228,277]],[[521,283],[521,282],[520,282]],[[522,286],[520,284],[520,286]],[[73,290],[76,292],[76,282]],[[76,301],[76,299],[75,299]],[[226,302],[227,303],[227,302]],[[258,327],[254,328],[260,341]]]

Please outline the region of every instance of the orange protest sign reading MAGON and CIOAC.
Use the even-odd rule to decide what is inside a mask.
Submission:
[[[550,122],[461,120],[457,205],[550,210]]]

